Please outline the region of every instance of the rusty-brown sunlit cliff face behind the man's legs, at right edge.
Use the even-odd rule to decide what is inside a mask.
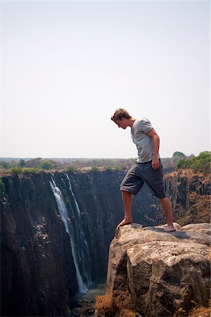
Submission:
[[[172,203],[174,220],[180,225],[210,222],[210,175],[179,170],[165,175],[165,189]],[[161,208],[156,219],[158,224],[165,223]]]

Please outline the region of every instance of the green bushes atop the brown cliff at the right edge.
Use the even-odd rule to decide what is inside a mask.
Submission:
[[[203,151],[198,156],[191,159],[181,159],[177,163],[177,168],[191,168],[195,172],[210,173],[211,152]]]

